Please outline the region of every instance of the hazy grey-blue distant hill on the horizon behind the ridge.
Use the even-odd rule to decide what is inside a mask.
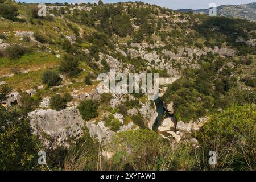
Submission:
[[[209,9],[201,9],[201,10],[181,9],[178,11],[182,11],[182,12],[193,11],[194,13],[208,14]],[[256,2],[245,4],[245,5],[221,5],[217,7],[217,15],[232,17],[232,18],[248,19],[252,22],[255,22],[256,21]]]

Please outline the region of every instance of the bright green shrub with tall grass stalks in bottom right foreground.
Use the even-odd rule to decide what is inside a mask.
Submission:
[[[214,149],[218,154],[215,169],[255,170],[255,127],[255,104],[216,111],[197,135],[204,146],[201,158]]]

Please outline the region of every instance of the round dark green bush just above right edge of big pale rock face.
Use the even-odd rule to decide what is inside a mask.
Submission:
[[[82,101],[77,109],[79,109],[82,119],[85,121],[98,117],[98,104],[93,100]]]

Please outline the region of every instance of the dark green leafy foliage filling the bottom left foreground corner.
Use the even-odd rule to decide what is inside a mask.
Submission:
[[[40,143],[28,118],[0,105],[0,126],[0,170],[35,169]]]

